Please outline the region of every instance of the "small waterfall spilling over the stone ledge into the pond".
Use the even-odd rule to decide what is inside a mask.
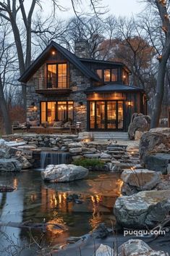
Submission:
[[[47,165],[68,164],[70,160],[67,152],[41,152],[41,168],[46,168]]]

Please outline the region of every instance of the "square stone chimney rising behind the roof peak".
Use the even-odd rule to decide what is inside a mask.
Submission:
[[[90,58],[90,46],[88,41],[85,39],[75,41],[75,55],[80,58]]]

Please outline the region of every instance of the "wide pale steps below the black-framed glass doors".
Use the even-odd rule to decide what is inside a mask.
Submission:
[[[121,131],[93,131],[92,132],[94,140],[121,140],[121,141],[128,141],[128,134]]]

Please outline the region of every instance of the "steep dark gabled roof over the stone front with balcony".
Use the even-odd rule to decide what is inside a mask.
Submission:
[[[22,74],[22,76],[18,79],[22,83],[27,83],[27,81],[31,78],[31,76],[38,70],[39,67],[43,64],[46,57],[48,57],[49,51],[51,48],[55,48],[57,51],[59,51],[61,54],[64,55],[66,59],[69,60],[77,69],[79,69],[83,75],[85,75],[87,78],[100,81],[100,78],[97,74],[95,74],[92,70],[88,69],[88,67],[85,67],[85,65],[82,64],[80,61],[80,58],[76,57],[75,54],[72,54],[71,51],[68,51],[63,46],[57,44],[54,41],[51,41],[51,43],[46,47],[46,49],[38,56],[37,59],[30,65],[30,67],[25,70],[25,73]]]

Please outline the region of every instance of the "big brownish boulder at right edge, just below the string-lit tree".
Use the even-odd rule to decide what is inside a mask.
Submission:
[[[170,152],[170,128],[155,128],[144,133],[140,140],[140,160],[145,164],[148,154]]]

